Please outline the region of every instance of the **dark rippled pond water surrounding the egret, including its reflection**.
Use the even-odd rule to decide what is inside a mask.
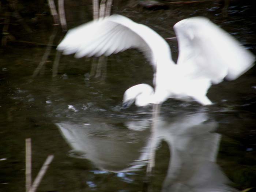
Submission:
[[[211,192],[256,187],[255,67],[233,82],[212,86],[208,97],[213,106],[171,99],[163,103],[153,142],[156,166],[148,182],[152,107],[122,109],[121,102],[128,87],[152,84],[150,65],[142,54],[128,50],[108,58],[105,78],[89,78],[92,59],[61,56],[52,78],[53,47],[44,69],[33,78],[46,49],[41,44],[47,44],[53,30],[47,4],[40,3],[37,7],[26,1],[19,7],[33,33],[11,17],[15,25],[9,33],[18,41],[0,49],[1,192],[25,191],[26,138],[32,140],[33,180],[46,157],[54,155],[38,191]],[[172,4],[155,11],[127,4],[114,2],[113,13],[146,24],[164,38],[174,36],[172,26],[179,20],[206,16],[256,54],[253,1],[231,1],[225,10],[218,1]],[[68,28],[91,19],[90,4],[67,1],[65,6]],[[63,35],[58,31],[53,44]],[[177,42],[168,42],[176,60]]]

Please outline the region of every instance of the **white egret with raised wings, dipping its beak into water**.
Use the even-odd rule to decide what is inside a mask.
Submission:
[[[153,65],[155,90],[146,84],[128,89],[124,106],[162,103],[168,98],[194,99],[210,105],[207,90],[224,78],[234,80],[252,67],[255,57],[224,30],[201,17],[174,25],[179,57],[173,62],[169,45],[147,26],[121,16],[89,22],[69,30],[57,47],[75,57],[109,56],[128,48],[138,48]]]

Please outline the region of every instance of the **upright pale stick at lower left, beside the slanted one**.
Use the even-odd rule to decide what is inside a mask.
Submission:
[[[31,187],[32,179],[31,179],[31,169],[32,169],[32,163],[31,163],[31,139],[26,139],[26,192],[29,192],[29,189]]]

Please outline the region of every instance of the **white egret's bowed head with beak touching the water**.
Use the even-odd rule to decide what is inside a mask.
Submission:
[[[150,103],[154,89],[148,84],[138,84],[124,92],[123,107],[128,108],[135,102],[136,106],[146,106]]]

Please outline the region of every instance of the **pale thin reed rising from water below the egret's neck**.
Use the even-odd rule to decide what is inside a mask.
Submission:
[[[161,104],[153,104],[153,122],[151,125],[151,145],[150,145],[150,157],[147,164],[147,176],[152,172],[155,166],[155,148],[157,144],[157,121],[160,112]]]

